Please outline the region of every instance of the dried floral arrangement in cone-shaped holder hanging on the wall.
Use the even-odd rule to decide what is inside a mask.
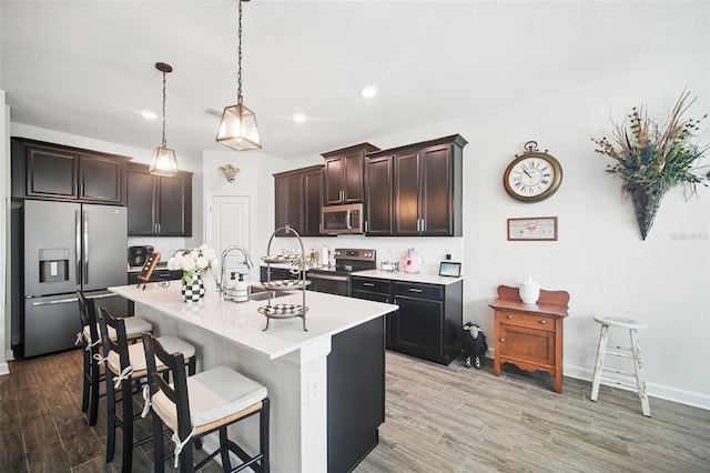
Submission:
[[[710,144],[696,142],[708,114],[686,117],[696,99],[683,90],[666,123],[657,122],[643,107],[635,107],[628,122],[615,123],[610,138],[591,139],[597,153],[615,160],[607,172],[623,179],[621,191],[633,200],[643,240],[666,192],[681,185],[688,200],[697,194],[698,184],[710,184],[708,165],[699,165]]]

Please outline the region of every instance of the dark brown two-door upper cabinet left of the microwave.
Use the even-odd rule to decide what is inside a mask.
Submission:
[[[321,234],[323,168],[320,164],[274,174],[275,229],[290,225],[300,235]]]

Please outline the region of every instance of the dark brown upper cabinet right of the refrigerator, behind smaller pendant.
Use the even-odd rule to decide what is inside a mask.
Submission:
[[[192,236],[192,173],[165,178],[128,167],[129,235]]]

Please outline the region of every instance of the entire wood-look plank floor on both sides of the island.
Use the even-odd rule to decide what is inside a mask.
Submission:
[[[81,412],[81,351],[10,369],[0,376],[0,472],[120,471],[120,440],[104,460],[104,400],[94,427]],[[355,473],[710,472],[710,411],[651,399],[649,419],[635,393],[602,386],[595,403],[588,382],[565,378],[562,394],[552,385],[511,365],[496,378],[489,360],[478,371],[387,352],[386,422]],[[150,427],[141,422],[136,435]],[[150,443],[133,466],[153,470]]]

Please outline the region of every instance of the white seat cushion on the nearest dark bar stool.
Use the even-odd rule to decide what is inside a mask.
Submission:
[[[235,414],[266,397],[266,388],[226,366],[187,378],[190,420],[193,429]],[[151,397],[153,410],[173,432],[178,430],[175,404],[159,391]]]

